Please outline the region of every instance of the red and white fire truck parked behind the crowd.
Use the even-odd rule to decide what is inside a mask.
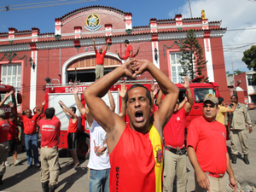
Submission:
[[[123,81],[119,81],[114,84],[110,90],[113,95],[113,100],[115,102],[115,113],[119,113],[121,109],[121,98],[119,97],[119,91],[121,89],[121,84]],[[130,89],[133,84],[143,84],[148,90],[150,90],[149,80],[139,80],[139,81],[126,81],[125,86],[127,90]],[[183,101],[184,96],[186,95],[185,89],[181,84],[176,84],[179,88],[179,101]],[[77,84],[79,88],[79,99],[83,103],[84,108],[86,102],[84,101],[83,91],[90,86],[90,84],[82,83]],[[202,114],[202,104],[204,96],[208,93],[212,93],[215,96],[219,96],[218,84],[217,83],[191,83],[190,90],[194,98],[194,105],[186,119],[186,127],[189,125],[190,121],[197,116]],[[75,99],[73,96],[73,86],[72,84],[47,84],[45,86],[45,108],[55,108],[55,115],[61,120],[61,139],[59,143],[59,148],[67,148],[67,126],[68,126],[68,116],[66,113],[63,113],[59,101],[64,102],[67,105],[67,108],[76,107]],[[109,106],[108,94],[102,97],[102,100],[106,102]],[[78,125],[78,139],[76,142],[76,149],[79,159],[87,159],[90,154],[90,131],[89,126],[87,125],[84,117],[81,115],[79,110],[76,114],[79,116],[79,125]],[[124,120],[126,123],[129,122],[129,118],[125,115]]]

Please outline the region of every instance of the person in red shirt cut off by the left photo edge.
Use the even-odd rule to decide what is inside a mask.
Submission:
[[[5,173],[4,161],[7,160],[9,154],[8,133],[9,122],[4,120],[5,112],[0,109],[0,185],[3,184],[3,174]]]

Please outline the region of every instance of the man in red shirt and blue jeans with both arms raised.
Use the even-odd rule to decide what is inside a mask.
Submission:
[[[25,143],[26,143],[26,157],[27,157],[27,169],[32,167],[32,157],[34,158],[34,164],[40,167],[38,160],[38,133],[37,133],[37,119],[44,112],[45,101],[42,102],[42,108],[39,113],[32,116],[32,110],[27,109],[26,115],[21,115],[14,110],[14,113],[20,117],[24,125]],[[15,108],[14,108],[15,109]],[[32,155],[33,151],[33,155]]]

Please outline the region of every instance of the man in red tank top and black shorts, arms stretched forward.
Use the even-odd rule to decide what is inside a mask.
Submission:
[[[70,118],[68,128],[67,128],[67,132],[68,132],[67,143],[68,143],[68,149],[70,151],[70,154],[73,157],[73,161],[67,163],[67,166],[73,166],[75,168],[79,166],[79,158],[75,150],[75,143],[76,143],[76,140],[78,139],[77,129],[78,129],[78,122],[79,122],[79,117],[78,115],[76,115],[77,108],[75,107],[67,108],[67,106],[61,101],[59,101],[59,104],[61,106],[62,111],[66,113],[67,116]]]

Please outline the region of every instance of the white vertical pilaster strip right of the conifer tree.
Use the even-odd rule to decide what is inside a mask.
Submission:
[[[209,51],[207,51],[207,41],[209,45]],[[209,77],[209,82],[214,82],[213,64],[212,64],[212,49],[210,38],[204,38],[204,47],[207,61],[207,76]]]

